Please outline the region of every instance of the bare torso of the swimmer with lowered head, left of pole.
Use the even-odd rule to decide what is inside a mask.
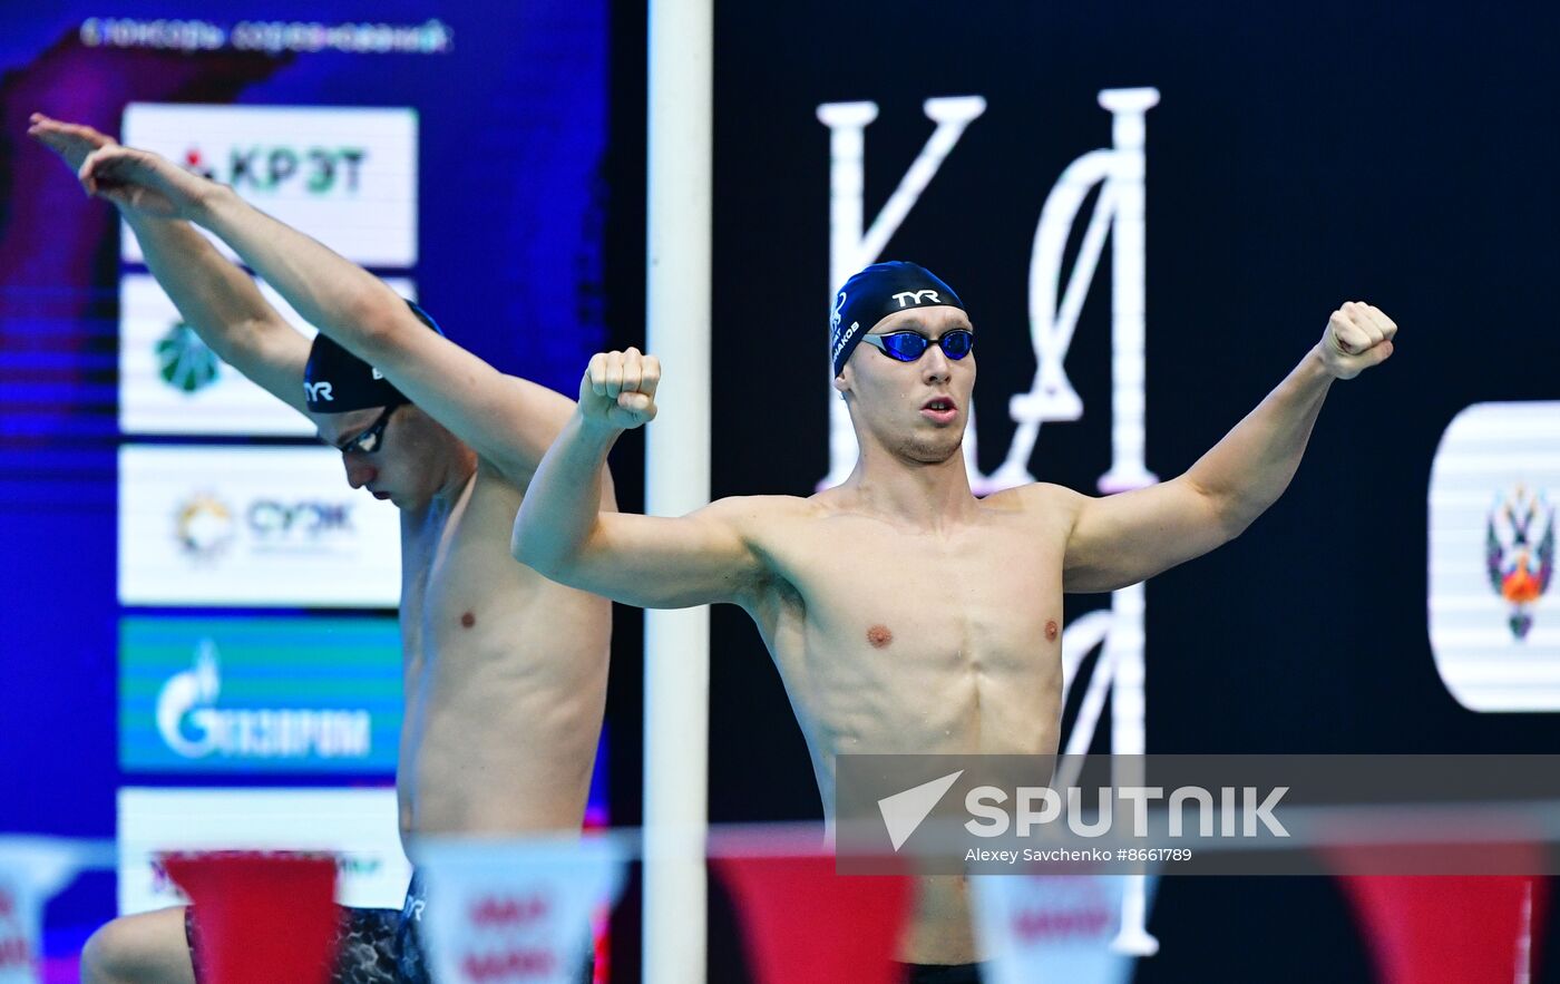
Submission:
[[[401,515],[401,831],[577,830],[607,692],[610,603],[509,555],[515,483],[480,465]]]

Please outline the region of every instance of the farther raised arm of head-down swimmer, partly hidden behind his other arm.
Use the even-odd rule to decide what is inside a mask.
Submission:
[[[28,136],[53,150],[76,172],[86,158],[114,140],[90,126],[61,123],[34,112]],[[217,356],[276,399],[304,412],[303,366],[309,340],[300,335],[254,281],[217,253],[187,221],[120,209],[140,242],[151,276],[179,317]]]

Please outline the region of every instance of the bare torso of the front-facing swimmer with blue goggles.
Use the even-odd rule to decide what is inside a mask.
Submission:
[[[1056,752],[1070,511],[1016,493],[930,532],[847,496],[769,501],[750,543],[778,577],[752,605],[813,755]],[[967,886],[922,880],[905,959],[975,959]]]

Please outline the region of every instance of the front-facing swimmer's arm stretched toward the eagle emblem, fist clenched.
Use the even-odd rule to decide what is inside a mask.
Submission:
[[[1064,588],[1111,591],[1239,536],[1289,488],[1332,381],[1385,362],[1396,334],[1379,309],[1345,304],[1289,377],[1184,474],[1119,496],[1076,496]]]

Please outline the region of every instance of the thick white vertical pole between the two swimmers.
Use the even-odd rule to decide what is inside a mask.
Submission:
[[[713,0],[651,0],[644,510],[710,501]],[[704,984],[710,610],[644,616],[644,981]]]

